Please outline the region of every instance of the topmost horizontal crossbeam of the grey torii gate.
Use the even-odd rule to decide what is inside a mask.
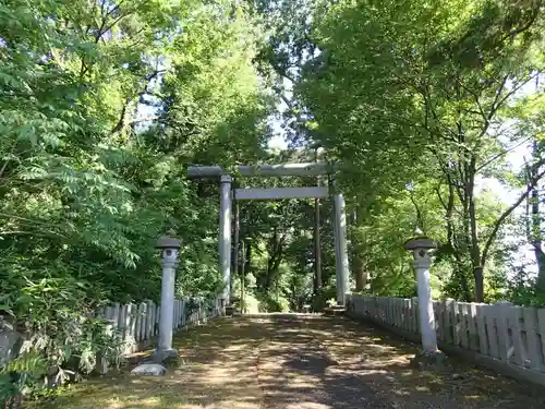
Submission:
[[[330,175],[335,165],[317,161],[307,164],[279,164],[238,166],[237,170],[242,177],[279,177],[279,176],[323,176]],[[190,166],[190,178],[217,178],[229,172],[219,166]]]

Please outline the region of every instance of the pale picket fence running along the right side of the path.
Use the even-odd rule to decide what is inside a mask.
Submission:
[[[415,339],[420,336],[416,298],[349,296],[348,301],[353,315]],[[477,361],[492,363],[494,369],[509,366],[508,375],[524,372],[517,377],[545,382],[545,308],[446,300],[434,301],[434,311],[439,347],[473,352]]]

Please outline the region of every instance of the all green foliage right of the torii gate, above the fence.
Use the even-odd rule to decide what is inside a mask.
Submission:
[[[420,227],[436,297],[543,302],[543,3],[272,3],[261,56],[294,142],[344,165],[358,289],[413,294]]]

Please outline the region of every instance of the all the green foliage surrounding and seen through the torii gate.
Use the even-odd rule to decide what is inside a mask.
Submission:
[[[186,180],[190,164],[342,163],[356,291],[414,294],[402,245],[419,227],[440,242],[434,297],[543,304],[543,9],[1,2],[0,306],[4,325],[28,334],[2,390],[35,390],[46,373],[61,382],[113,353],[116,334],[93,312],[158,300],[155,242],[170,228],[183,240],[177,293],[221,290],[218,187]],[[275,129],[289,148],[268,148]],[[335,298],[328,201],[239,213],[237,304],[319,309]]]

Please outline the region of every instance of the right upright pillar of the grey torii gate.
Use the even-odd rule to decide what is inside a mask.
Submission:
[[[337,304],[344,305],[346,297],[350,292],[350,276],[347,246],[347,214],[344,210],[344,197],[341,193],[334,195],[334,212]]]

